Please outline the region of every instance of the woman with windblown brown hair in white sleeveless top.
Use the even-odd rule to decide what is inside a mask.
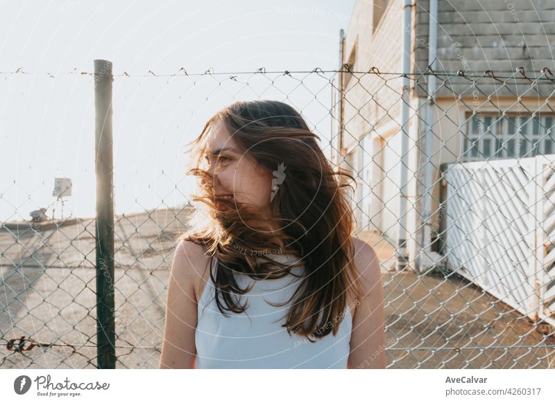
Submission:
[[[255,100],[191,143],[203,208],[178,238],[160,368],[385,368],[379,260],[316,138]]]

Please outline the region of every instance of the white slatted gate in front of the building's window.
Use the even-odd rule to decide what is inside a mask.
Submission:
[[[449,267],[555,325],[555,155],[452,163],[444,179]]]

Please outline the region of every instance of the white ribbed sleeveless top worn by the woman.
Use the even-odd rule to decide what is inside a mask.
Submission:
[[[293,255],[271,255],[278,262],[287,262]],[[216,268],[216,259],[212,272]],[[304,266],[293,267],[300,275]],[[196,368],[347,368],[350,353],[352,314],[349,304],[341,316],[332,321],[343,321],[339,332],[309,341],[282,327],[293,300],[275,307],[266,303],[284,303],[293,295],[302,278],[288,274],[283,278],[255,280],[237,274],[241,289],[254,283],[253,289],[239,296],[239,303],[247,303],[246,310],[237,314],[225,311],[223,316],[216,305],[214,283],[209,278],[198,301],[198,322],[195,331]],[[219,292],[223,306],[223,297]],[[264,301],[266,300],[266,301]],[[330,321],[331,327],[334,323]]]

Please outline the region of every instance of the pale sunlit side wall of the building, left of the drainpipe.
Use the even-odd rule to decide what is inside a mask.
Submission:
[[[380,6],[385,8],[380,9]],[[380,1],[379,4],[357,1],[353,10],[355,16],[345,33],[343,60],[354,72],[345,73],[343,146],[355,155],[353,161],[358,163],[357,181],[361,190],[355,195],[355,215],[359,229],[377,229],[386,238],[396,241],[402,78],[399,74],[385,73],[402,70],[402,7],[400,1]],[[377,67],[374,73],[366,73],[373,67]],[[415,123],[411,123],[411,133],[409,152],[413,153]],[[416,189],[413,172],[409,172],[411,195]]]

